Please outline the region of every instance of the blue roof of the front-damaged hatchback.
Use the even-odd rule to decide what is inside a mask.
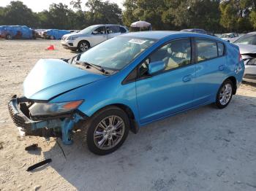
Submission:
[[[186,36],[197,36],[197,37],[206,37],[208,39],[217,39],[214,36],[209,36],[206,34],[197,34],[197,33],[190,33],[184,31],[142,31],[142,32],[133,32],[128,34],[123,34],[121,36],[131,36],[137,38],[146,38],[146,39],[162,39],[167,36],[175,36],[175,35],[186,35]],[[221,39],[219,39],[221,41]]]

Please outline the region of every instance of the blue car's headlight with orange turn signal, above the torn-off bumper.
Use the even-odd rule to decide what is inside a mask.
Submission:
[[[34,103],[29,107],[31,116],[56,115],[72,112],[77,109],[83,100],[61,103]]]

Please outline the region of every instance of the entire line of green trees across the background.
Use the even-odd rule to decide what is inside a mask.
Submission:
[[[256,0],[125,0],[124,10],[102,0],[50,4],[48,10],[33,12],[21,1],[0,7],[0,25],[31,28],[83,29],[99,23],[130,26],[146,20],[154,30],[203,28],[222,33],[245,33],[256,29]],[[83,11],[85,8],[85,11]]]

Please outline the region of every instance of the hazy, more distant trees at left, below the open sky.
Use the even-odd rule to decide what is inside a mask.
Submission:
[[[121,9],[115,3],[89,0],[82,10],[80,0],[70,1],[74,9],[66,4],[50,4],[48,10],[32,12],[21,1],[11,1],[0,7],[0,25],[26,25],[33,28],[83,29],[98,23],[122,23]]]

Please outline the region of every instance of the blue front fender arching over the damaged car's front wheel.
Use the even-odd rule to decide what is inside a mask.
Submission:
[[[135,115],[135,120],[139,122],[135,82],[121,85],[121,82],[116,80],[116,77],[108,77],[107,79],[59,95],[50,102],[75,101],[81,99],[83,99],[84,102],[78,109],[89,117],[105,106],[123,104],[132,110]]]

